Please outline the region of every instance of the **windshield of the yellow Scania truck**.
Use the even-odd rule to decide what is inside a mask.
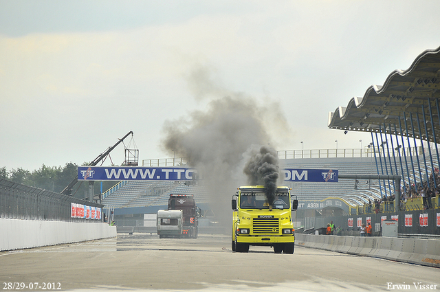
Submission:
[[[275,196],[274,209],[289,209],[289,193],[277,192]],[[264,192],[241,192],[240,207],[244,209],[269,209]]]

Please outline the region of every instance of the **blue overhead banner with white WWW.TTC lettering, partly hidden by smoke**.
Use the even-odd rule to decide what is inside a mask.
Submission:
[[[284,181],[338,182],[338,170],[285,168]],[[190,181],[202,179],[194,168],[80,166],[78,181]]]

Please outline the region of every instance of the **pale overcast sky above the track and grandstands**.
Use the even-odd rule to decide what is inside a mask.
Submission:
[[[439,47],[439,11],[437,0],[0,0],[0,167],[82,164],[129,131],[141,160],[173,157],[164,123],[227,92],[280,105],[291,131],[278,150],[360,148],[369,134],[327,128],[329,112]]]

